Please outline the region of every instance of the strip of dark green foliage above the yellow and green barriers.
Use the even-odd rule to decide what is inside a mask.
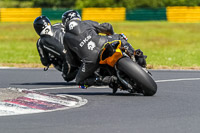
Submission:
[[[1,0],[3,7],[75,8],[126,7],[160,8],[167,6],[200,6],[200,0]]]

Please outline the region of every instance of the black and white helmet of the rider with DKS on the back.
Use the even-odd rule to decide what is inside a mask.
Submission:
[[[62,15],[62,23],[63,23],[64,26],[68,21],[70,21],[72,19],[81,20],[81,16],[75,10],[69,10],[69,11],[66,11],[65,13],[63,13],[63,15]]]

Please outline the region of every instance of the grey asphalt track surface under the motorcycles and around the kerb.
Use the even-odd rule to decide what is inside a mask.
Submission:
[[[200,78],[200,71],[151,70],[155,80]],[[73,84],[73,83],[72,83]],[[0,88],[69,86],[51,69],[0,69]],[[109,88],[39,90],[88,100],[80,108],[0,117],[0,133],[198,133],[200,80],[160,82],[153,97]]]

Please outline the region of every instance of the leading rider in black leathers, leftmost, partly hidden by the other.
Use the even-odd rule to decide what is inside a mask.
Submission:
[[[64,80],[71,81],[75,78],[77,69],[72,67],[73,56],[64,49],[64,27],[61,23],[51,25],[46,16],[39,16],[33,23],[34,29],[40,38],[37,41],[37,50],[41,63],[47,68],[53,64],[56,69],[62,71]],[[61,66],[61,67],[60,67]]]

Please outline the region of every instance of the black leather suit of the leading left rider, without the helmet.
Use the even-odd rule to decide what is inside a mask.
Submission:
[[[41,63],[49,67],[51,64],[62,71],[64,80],[71,81],[75,78],[77,67],[73,67],[73,56],[65,50],[63,45],[64,27],[61,23],[51,26],[52,34],[41,35],[37,41],[37,50]]]

